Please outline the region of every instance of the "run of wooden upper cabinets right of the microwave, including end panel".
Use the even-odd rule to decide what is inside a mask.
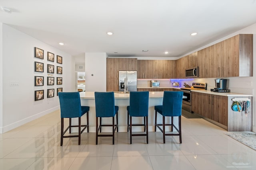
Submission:
[[[198,51],[199,78],[252,76],[252,34],[239,34]]]

